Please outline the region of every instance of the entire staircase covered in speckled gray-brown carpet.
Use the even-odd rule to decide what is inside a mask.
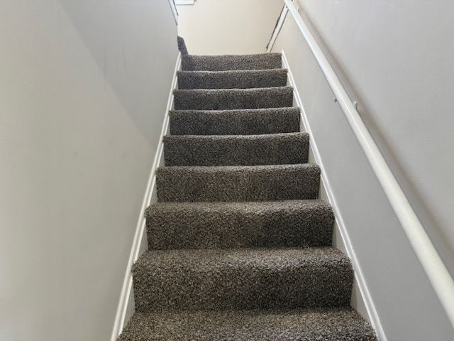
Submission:
[[[182,56],[121,341],[377,340],[281,55]]]

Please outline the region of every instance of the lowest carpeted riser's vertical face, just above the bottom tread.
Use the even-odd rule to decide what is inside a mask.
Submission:
[[[216,271],[148,269],[135,274],[139,311],[336,307],[350,303],[350,266],[223,266]]]

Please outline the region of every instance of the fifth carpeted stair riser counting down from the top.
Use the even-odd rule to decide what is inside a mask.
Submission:
[[[166,166],[254,166],[306,163],[309,135],[166,136]]]

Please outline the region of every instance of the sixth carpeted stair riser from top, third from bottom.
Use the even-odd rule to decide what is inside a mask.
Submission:
[[[262,201],[316,199],[318,166],[218,169],[160,168],[157,171],[159,201]]]

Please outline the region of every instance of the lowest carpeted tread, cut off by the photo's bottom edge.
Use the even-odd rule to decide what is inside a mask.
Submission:
[[[135,313],[118,341],[376,341],[351,308]]]

